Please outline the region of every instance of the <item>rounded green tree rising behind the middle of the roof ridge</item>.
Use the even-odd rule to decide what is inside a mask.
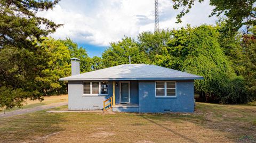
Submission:
[[[106,67],[131,63],[149,63],[144,52],[141,52],[136,41],[130,37],[124,37],[117,43],[110,43],[110,47],[102,53],[102,62]]]

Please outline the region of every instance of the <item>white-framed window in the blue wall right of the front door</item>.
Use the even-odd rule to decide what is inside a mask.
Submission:
[[[176,96],[176,82],[175,81],[157,81],[156,96],[166,96],[166,97]]]

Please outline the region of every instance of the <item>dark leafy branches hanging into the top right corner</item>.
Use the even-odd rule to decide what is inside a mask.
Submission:
[[[182,8],[177,15],[177,22],[181,22],[182,16],[189,12],[196,0],[172,0],[173,8],[178,10]],[[198,0],[202,3],[204,0]],[[243,25],[253,26],[256,23],[255,0],[210,0],[210,5],[214,6],[211,15],[225,15],[227,18],[227,30],[237,31]]]

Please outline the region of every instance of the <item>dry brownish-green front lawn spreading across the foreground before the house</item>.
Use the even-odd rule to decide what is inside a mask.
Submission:
[[[0,119],[0,142],[25,141],[256,142],[256,106],[197,103],[189,114],[39,111]]]

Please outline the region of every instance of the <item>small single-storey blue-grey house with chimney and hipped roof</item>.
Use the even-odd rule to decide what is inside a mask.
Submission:
[[[71,58],[69,110],[194,112],[194,80],[203,77],[148,64],[122,64],[81,73]]]

